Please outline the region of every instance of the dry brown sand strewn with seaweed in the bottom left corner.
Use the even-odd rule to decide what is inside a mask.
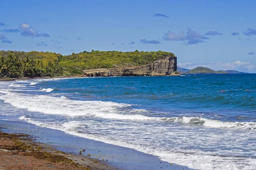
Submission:
[[[0,170],[114,170],[103,160],[56,150],[54,145],[35,142],[35,136],[5,133],[0,126]],[[90,154],[89,154],[90,155]]]

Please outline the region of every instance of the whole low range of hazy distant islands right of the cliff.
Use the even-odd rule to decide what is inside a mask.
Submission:
[[[197,67],[192,70],[177,67],[177,72],[180,74],[247,74],[236,70],[219,70],[214,71],[207,67]]]

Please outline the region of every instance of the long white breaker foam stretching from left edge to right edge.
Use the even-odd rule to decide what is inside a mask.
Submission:
[[[41,89],[42,90],[42,89]],[[50,92],[53,89],[50,88]],[[23,95],[9,91],[0,91],[6,95],[0,96],[5,102],[17,108],[27,109],[28,111],[41,112],[45,114],[59,114],[66,116],[96,116],[104,119],[123,119],[123,120],[143,120],[143,121],[162,121],[180,122],[188,125],[202,125],[214,128],[238,128],[256,130],[256,122],[223,122],[202,117],[150,117],[141,113],[149,113],[144,109],[122,108],[131,105],[115,102],[101,101],[78,101],[69,100],[65,96],[54,97],[45,95]],[[122,111],[121,111],[122,110]]]

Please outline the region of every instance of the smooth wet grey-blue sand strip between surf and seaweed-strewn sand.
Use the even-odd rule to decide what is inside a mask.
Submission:
[[[96,166],[96,169],[100,164],[103,167],[98,169],[101,170],[190,170],[187,167],[177,164],[171,165],[168,162],[161,161],[157,156],[141,153],[137,150],[69,135],[59,130],[48,129],[26,122],[0,120],[0,127],[4,127],[0,130],[5,133],[23,133],[31,136],[38,136],[35,138],[35,143],[38,144],[38,142],[40,142],[40,144],[43,144],[52,150],[71,153],[71,155],[75,156],[75,158],[73,158],[74,160],[81,160],[84,159],[81,157],[85,157],[86,159],[84,160],[88,159],[86,163],[88,162],[90,167]],[[83,154],[79,155],[79,151],[83,149],[85,152],[82,153],[85,156],[82,156]],[[90,156],[87,156],[89,153]],[[104,161],[102,159],[104,159]],[[93,164],[95,160],[100,161],[97,164]],[[85,164],[84,161],[79,161],[78,163]],[[3,165],[0,164],[0,167],[1,166]]]

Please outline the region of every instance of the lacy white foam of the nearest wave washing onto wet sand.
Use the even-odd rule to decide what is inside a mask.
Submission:
[[[163,145],[161,145],[161,139],[164,139],[164,136],[172,135],[174,139],[176,139],[177,136],[180,136],[179,137],[180,139],[184,139],[185,136],[191,135],[190,133],[186,133],[186,131],[184,130],[177,131],[177,129],[175,128],[173,128],[171,131],[166,131],[165,130],[166,127],[154,126],[152,128],[148,128],[148,126],[142,127],[139,124],[134,125],[134,123],[127,122],[122,128],[124,129],[127,128],[129,129],[129,131],[127,131],[127,133],[124,134],[120,132],[119,128],[117,129],[117,131],[115,131],[115,129],[118,126],[114,125],[111,122],[109,124],[106,123],[102,125],[102,123],[97,124],[94,121],[86,122],[86,123],[82,121],[70,121],[70,122],[63,123],[62,125],[52,125],[47,123],[41,123],[39,121],[26,118],[25,116],[21,116],[20,119],[23,119],[26,122],[32,123],[34,125],[61,130],[71,135],[76,135],[76,136],[84,137],[87,139],[93,139],[93,140],[105,142],[108,144],[114,144],[122,147],[132,148],[144,153],[158,156],[163,161],[168,161],[170,163],[176,163],[176,164],[188,166],[189,168],[193,168],[193,169],[241,170],[241,169],[253,169],[254,165],[256,164],[256,159],[242,158],[240,156],[238,157],[224,156],[223,157],[221,156],[221,154],[218,154],[218,153],[215,153],[215,154],[203,153],[203,152],[200,152],[199,150],[189,150],[189,148],[185,149],[183,152],[180,152],[178,148],[179,144],[177,144],[178,145],[177,148],[175,145],[173,145],[173,148],[170,147],[168,149],[167,148],[162,149],[161,147],[163,147]],[[97,131],[98,132],[101,131],[102,128],[104,128],[104,131],[108,130],[109,128],[111,130],[110,132],[112,132],[113,134],[106,135],[105,133],[104,134],[90,134],[86,132],[81,133],[81,127],[86,127],[86,129],[89,128],[88,132],[92,131],[94,133]],[[140,130],[140,128],[142,129]],[[156,132],[159,132],[159,130],[164,132],[164,134],[156,133]],[[156,136],[154,135],[155,133],[156,133]],[[139,139],[137,139],[136,134],[139,135],[140,137]],[[143,136],[146,135],[149,137],[149,134],[151,137],[154,136],[154,138],[152,138],[149,141],[142,142],[143,139],[142,141],[140,141],[142,135]],[[212,134],[210,134],[209,136],[211,135]],[[226,135],[228,137],[229,134],[227,133]],[[205,136],[202,136],[201,134],[194,134],[194,136],[195,138],[197,138],[195,139],[196,141],[204,140],[205,138]],[[214,138],[215,137],[213,136],[213,140]],[[159,141],[154,141],[154,140],[159,140]],[[154,145],[154,143],[152,142],[160,142],[161,147],[155,146],[155,148],[152,148],[151,145],[152,144]],[[195,143],[191,143],[191,144],[193,145]],[[221,142],[219,144],[221,144]]]

